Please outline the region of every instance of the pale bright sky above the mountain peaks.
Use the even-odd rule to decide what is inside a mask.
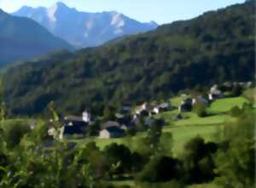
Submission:
[[[10,13],[23,5],[50,7],[56,2],[86,12],[115,10],[136,20],[154,20],[163,24],[190,19],[207,10],[224,8],[245,0],[0,0],[0,9]]]

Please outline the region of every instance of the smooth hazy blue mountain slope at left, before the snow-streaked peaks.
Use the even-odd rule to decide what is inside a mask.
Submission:
[[[60,49],[73,49],[33,20],[0,10],[0,64],[36,57]]]

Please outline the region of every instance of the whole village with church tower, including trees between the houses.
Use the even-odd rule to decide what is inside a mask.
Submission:
[[[132,108],[130,105],[122,106],[119,111],[111,111],[112,117],[104,119],[102,117],[93,117],[90,111],[85,110],[82,116],[67,116],[61,118],[61,128],[55,127],[55,121],[49,120],[49,136],[54,139],[82,139],[88,135],[88,129],[92,126],[95,128],[96,138],[112,139],[121,138],[126,135],[135,135],[137,131],[146,131],[150,128],[157,115],[164,111],[172,111],[177,109],[178,114],[173,117],[173,121],[183,119],[183,112],[193,111],[195,107],[200,106],[201,109],[206,109],[214,100],[228,98],[230,96],[238,96],[241,91],[246,88],[252,88],[253,83],[223,83],[222,85],[213,85],[205,95],[198,94],[181,94],[183,100],[180,105],[174,106],[171,101],[161,103],[144,102],[143,105]],[[198,115],[201,116],[201,115]],[[163,122],[164,126],[165,123]],[[139,128],[138,128],[139,127]]]

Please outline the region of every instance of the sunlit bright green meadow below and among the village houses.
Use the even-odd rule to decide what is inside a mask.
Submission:
[[[182,97],[173,98],[172,105],[178,105],[181,100]],[[172,133],[174,140],[172,151],[175,155],[178,155],[183,151],[183,145],[197,135],[200,135],[205,140],[214,140],[214,135],[217,133],[218,128],[222,127],[224,122],[236,121],[236,118],[230,117],[227,112],[235,105],[241,107],[244,102],[247,102],[247,100],[243,97],[216,100],[208,108],[208,111],[212,113],[209,117],[198,117],[194,112],[185,112],[182,113],[182,120],[174,122],[173,117],[178,114],[177,110],[160,113],[157,117],[165,119],[166,127],[163,128],[163,134]],[[137,143],[137,140],[145,135],[146,133],[140,133],[132,138],[105,140],[89,138],[85,140],[77,140],[77,142],[79,144],[85,144],[89,141],[95,140],[96,145],[101,149],[111,143],[128,145],[131,146],[132,149],[133,143]],[[134,148],[136,148],[136,145]]]

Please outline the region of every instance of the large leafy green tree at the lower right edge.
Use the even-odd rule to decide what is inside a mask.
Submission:
[[[236,123],[224,127],[222,140],[230,142],[228,148],[218,151],[216,183],[224,188],[255,185],[255,115],[253,108],[244,105]]]

